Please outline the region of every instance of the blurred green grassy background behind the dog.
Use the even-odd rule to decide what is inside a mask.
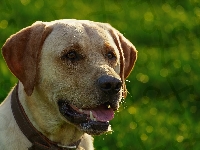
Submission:
[[[0,45],[37,20],[108,22],[139,51],[128,97],[97,150],[200,149],[198,0],[1,0]],[[0,56],[0,101],[17,79]]]

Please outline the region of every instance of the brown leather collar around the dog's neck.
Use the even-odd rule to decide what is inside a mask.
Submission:
[[[15,86],[11,96],[11,108],[13,116],[27,139],[32,143],[29,150],[72,150],[76,149],[81,140],[70,144],[66,147],[59,147],[57,143],[47,139],[42,133],[40,133],[29,121],[25,114],[25,111],[19,102],[18,98],[18,84]]]

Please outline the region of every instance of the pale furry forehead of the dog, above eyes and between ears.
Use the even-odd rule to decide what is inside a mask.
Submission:
[[[48,24],[53,28],[45,45],[66,49],[74,44],[80,47],[102,49],[109,46],[117,51],[113,37],[109,33],[110,25],[88,20],[58,20]]]

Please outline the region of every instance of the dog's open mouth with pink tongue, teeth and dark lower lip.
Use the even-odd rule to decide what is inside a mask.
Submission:
[[[78,109],[65,100],[58,101],[59,111],[64,118],[90,135],[100,135],[111,131],[109,121],[114,118],[114,110],[109,103],[95,108]]]

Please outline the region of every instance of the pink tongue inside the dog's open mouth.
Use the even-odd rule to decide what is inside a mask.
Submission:
[[[93,116],[97,121],[110,121],[114,118],[114,111],[112,108],[106,108],[105,106],[99,106],[91,110]]]

